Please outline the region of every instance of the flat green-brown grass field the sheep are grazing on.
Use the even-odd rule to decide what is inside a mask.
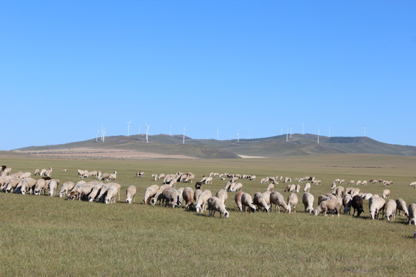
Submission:
[[[322,180],[318,196],[333,179],[388,179],[392,199],[416,201],[416,157],[333,154],[279,159],[64,160],[28,159],[0,154],[12,172],[53,168],[53,177],[78,181],[77,169],[117,170],[121,202],[97,204],[44,195],[0,193],[0,276],[415,276],[415,226],[404,216],[394,222],[370,220],[368,201],[362,218],[304,213],[239,213],[228,194],[229,219],[183,208],[141,204],[153,173],[191,171],[257,175],[243,180],[253,195],[267,185],[261,177],[305,175]],[[68,172],[62,172],[67,168]],[[135,172],[144,171],[136,178]],[[137,186],[135,204],[125,204],[125,188]],[[159,184],[160,185],[160,184]],[[192,186],[194,184],[177,184]],[[213,194],[225,186],[214,178]],[[304,184],[302,184],[303,189]],[[345,185],[347,187],[347,185]],[[275,190],[284,195],[285,184]],[[381,184],[361,187],[378,193]],[[302,193],[298,194],[302,198]],[[273,208],[274,210],[274,208]]]

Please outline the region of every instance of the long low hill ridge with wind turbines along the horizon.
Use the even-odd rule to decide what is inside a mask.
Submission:
[[[318,136],[315,134],[292,134],[270,136],[259,139],[216,141],[215,139],[191,139],[182,135],[158,134],[148,137],[144,134],[133,136],[107,136],[105,142],[95,139],[60,145],[31,146],[19,151],[43,151],[71,148],[91,148],[102,150],[130,150],[157,154],[187,155],[199,159],[236,159],[244,157],[288,157],[314,154],[389,154],[398,156],[416,155],[416,147],[381,143],[367,136]]]

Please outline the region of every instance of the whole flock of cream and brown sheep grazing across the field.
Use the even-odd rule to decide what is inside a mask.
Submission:
[[[67,171],[67,170],[62,170]],[[52,168],[35,170],[34,175],[39,175],[40,179],[31,178],[31,172],[15,172],[12,173],[11,168],[2,166],[0,168],[0,191],[5,193],[33,193],[34,195],[44,194],[49,192],[50,196],[55,196],[58,186],[60,185],[59,179],[53,179],[51,177],[53,172]],[[114,182],[103,183],[103,181],[115,181],[117,172],[102,173],[100,171],[88,171],[78,170],[78,178],[96,178],[94,181],[80,180],[76,184],[72,181],[64,182],[59,192],[60,197],[67,197],[68,199],[85,199],[89,202],[103,202],[106,204],[116,203],[116,197],[120,201],[121,185]],[[143,177],[144,172],[137,172],[136,177]],[[218,190],[215,195],[211,193],[211,190],[202,190],[202,186],[207,186],[212,183],[214,177],[218,177],[223,181],[227,181],[225,187]],[[225,218],[229,217],[227,211],[227,199],[228,192],[236,192],[234,195],[234,201],[239,211],[241,212],[255,212],[265,211],[269,213],[272,205],[275,205],[277,213],[280,213],[280,207],[284,212],[291,213],[296,211],[296,205],[298,204],[297,193],[300,193],[300,183],[306,181],[304,185],[302,204],[304,204],[304,211],[306,213],[314,213],[318,215],[323,213],[327,216],[327,213],[335,213],[340,216],[341,209],[343,213],[350,214],[353,209],[352,215],[356,214],[359,217],[363,213],[363,200],[368,200],[368,207],[370,210],[370,218],[379,218],[380,211],[383,213],[382,218],[387,218],[388,221],[395,220],[395,215],[399,212],[404,213],[408,217],[408,224],[414,224],[416,226],[416,203],[412,203],[407,206],[403,199],[398,198],[396,200],[390,199],[390,190],[388,188],[382,191],[381,197],[379,195],[372,195],[370,193],[362,193],[361,188],[358,186],[366,186],[367,181],[349,181],[349,185],[355,185],[352,187],[344,188],[340,186],[345,182],[344,179],[335,179],[331,185],[331,192],[318,197],[318,206],[313,208],[315,197],[310,193],[311,184],[319,186],[320,180],[315,177],[301,177],[297,179],[298,184],[288,184],[284,189],[284,192],[290,193],[286,201],[275,189],[275,186],[279,184],[278,181],[284,183],[292,182],[290,177],[266,177],[261,179],[261,184],[268,184],[266,191],[261,193],[254,193],[250,195],[242,191],[243,184],[239,181],[241,179],[248,179],[255,181],[255,175],[232,175],[228,173],[219,174],[211,172],[207,177],[203,176],[200,181],[195,184],[195,190],[191,187],[181,187],[176,189],[177,182],[180,183],[193,183],[196,176],[192,172],[176,172],[174,174],[160,174],[152,175],[153,181],[162,181],[162,186],[154,184],[146,188],[144,193],[144,204],[155,205],[164,204],[164,206],[184,206],[184,208],[196,211],[197,213],[209,211],[210,216],[214,216],[216,212],[220,213],[220,217],[224,215]],[[370,180],[372,184],[383,183],[383,186],[391,186],[392,181],[385,180]],[[411,183],[409,186],[416,188],[416,182]],[[129,186],[126,193],[126,202],[135,202],[135,195],[137,188],[135,186]],[[386,200],[388,199],[388,200]],[[387,201],[387,202],[386,202]]]

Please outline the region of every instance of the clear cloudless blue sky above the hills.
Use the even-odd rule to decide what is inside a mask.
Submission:
[[[0,150],[293,133],[416,145],[416,1],[0,1]]]

